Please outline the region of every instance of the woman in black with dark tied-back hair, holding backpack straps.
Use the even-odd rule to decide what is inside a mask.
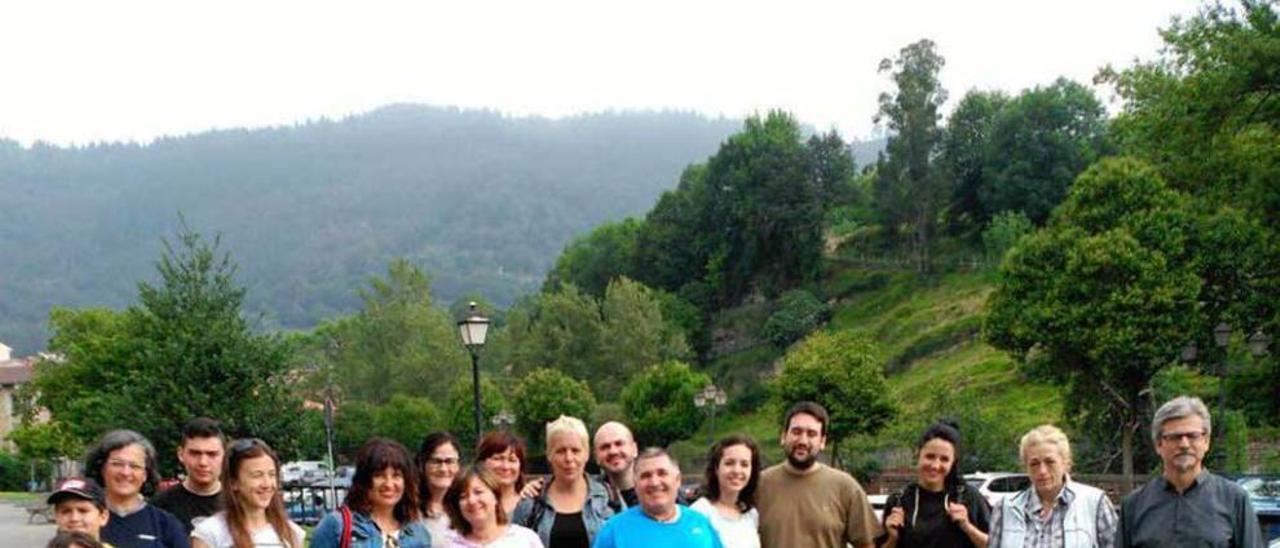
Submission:
[[[987,502],[960,474],[960,430],[938,421],[915,444],[915,480],[886,501],[881,547],[984,547]]]

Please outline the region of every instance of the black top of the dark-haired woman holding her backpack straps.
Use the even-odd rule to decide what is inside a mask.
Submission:
[[[919,494],[919,508],[916,508],[916,494]],[[959,501],[957,501],[959,499]],[[946,502],[957,502],[969,510],[969,522],[980,531],[991,530],[991,510],[987,502],[974,489],[961,489],[960,493],[934,493],[920,489],[918,485],[908,485],[902,493],[893,494],[884,503],[884,517],[895,507],[901,506],[904,516],[902,530],[897,536],[897,545],[901,548],[970,548],[973,542],[964,534],[951,516],[947,515]],[[883,525],[883,520],[881,521]],[[883,544],[887,535],[877,539],[877,544]]]

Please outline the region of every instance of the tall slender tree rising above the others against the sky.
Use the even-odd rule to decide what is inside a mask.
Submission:
[[[938,109],[947,92],[938,81],[945,59],[929,40],[911,44],[896,59],[884,59],[879,72],[890,72],[896,93],[881,93],[876,123],[886,122],[888,142],[876,163],[876,205],[882,224],[893,233],[911,233],[916,269],[931,269],[933,224],[950,197],[947,179],[934,169],[942,141]]]

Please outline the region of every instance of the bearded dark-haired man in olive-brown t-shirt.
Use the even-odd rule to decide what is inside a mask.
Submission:
[[[867,548],[879,534],[858,480],[818,462],[829,423],[814,402],[787,410],[781,437],[787,461],[760,472],[756,490],[763,548]]]

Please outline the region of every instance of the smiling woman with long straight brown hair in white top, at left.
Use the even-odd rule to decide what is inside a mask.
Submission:
[[[280,460],[257,438],[237,439],[223,460],[223,510],[191,531],[193,548],[301,548],[280,496]]]

